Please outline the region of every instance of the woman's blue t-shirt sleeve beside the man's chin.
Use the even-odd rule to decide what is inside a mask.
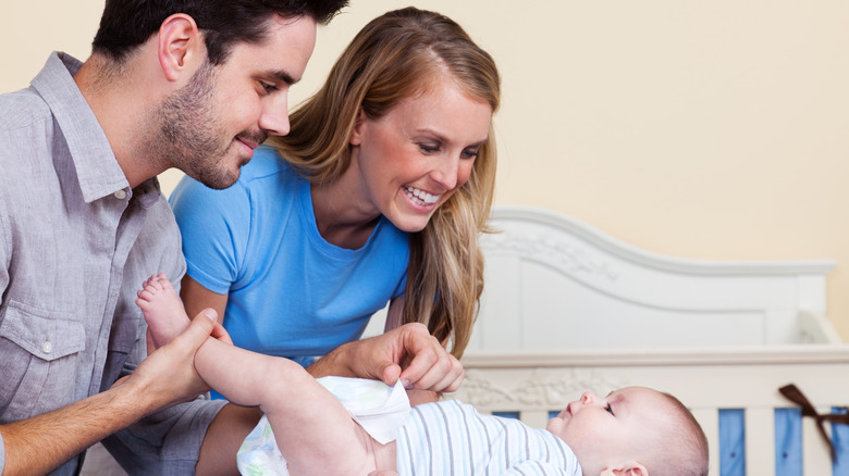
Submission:
[[[226,295],[238,280],[250,235],[250,195],[241,184],[211,189],[184,177],[170,198],[187,274],[212,292]]]

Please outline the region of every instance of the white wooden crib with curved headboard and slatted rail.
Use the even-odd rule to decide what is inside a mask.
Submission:
[[[784,474],[773,415],[795,404],[779,387],[796,384],[820,413],[849,404],[849,346],[825,315],[832,261],[672,259],[531,208],[500,206],[492,225],[501,233],[483,238],[483,303],[454,398],[544,426],[585,390],[668,391],[702,424],[712,475],[718,412],[742,409],[749,476]],[[803,474],[832,475],[812,418],[802,440]]]

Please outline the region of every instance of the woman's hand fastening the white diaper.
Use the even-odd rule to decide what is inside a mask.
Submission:
[[[308,368],[313,377],[373,378],[407,389],[456,391],[465,372],[423,324],[406,324],[386,334],[348,342]]]

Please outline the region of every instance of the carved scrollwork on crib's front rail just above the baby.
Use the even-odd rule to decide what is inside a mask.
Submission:
[[[606,394],[626,386],[628,383],[620,378],[576,368],[562,372],[537,368],[527,378],[519,380],[497,378],[494,373],[469,369],[454,398],[480,408],[557,409],[577,399],[583,391]]]

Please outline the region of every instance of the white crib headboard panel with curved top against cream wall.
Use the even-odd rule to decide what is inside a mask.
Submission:
[[[533,208],[499,206],[491,224],[501,233],[482,237],[485,288],[469,349],[839,341],[832,326],[808,323],[825,315],[832,261],[674,259]]]

